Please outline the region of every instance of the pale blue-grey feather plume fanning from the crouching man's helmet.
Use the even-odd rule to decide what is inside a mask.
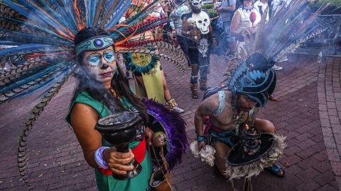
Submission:
[[[244,33],[245,45],[239,51],[243,54],[241,57],[247,59],[257,52],[270,60],[293,52],[310,37],[323,32],[318,29],[319,25],[312,24],[324,8],[325,6],[321,7],[306,18],[310,15],[307,2],[292,0],[290,4],[283,4],[274,10],[274,16],[268,23],[264,23],[264,14],[255,35]]]

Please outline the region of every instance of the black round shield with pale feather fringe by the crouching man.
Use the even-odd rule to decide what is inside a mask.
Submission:
[[[229,180],[259,175],[264,168],[271,166],[281,158],[286,148],[284,139],[285,137],[276,134],[262,133],[260,149],[252,156],[244,154],[242,145],[238,144],[229,151],[228,165],[224,175]]]

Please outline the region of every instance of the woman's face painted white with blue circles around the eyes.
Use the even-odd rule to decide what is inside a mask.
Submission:
[[[102,83],[110,82],[117,70],[115,52],[112,47],[84,52],[82,64],[87,66],[96,80],[102,81]]]

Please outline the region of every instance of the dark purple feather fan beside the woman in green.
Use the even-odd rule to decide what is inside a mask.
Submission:
[[[154,132],[161,130],[167,134],[168,142],[165,158],[169,164],[169,170],[171,170],[176,164],[181,162],[183,154],[188,149],[189,144],[185,131],[186,122],[180,114],[168,110],[168,108],[161,103],[157,103],[155,100],[143,98],[142,102],[146,105],[148,114],[153,116],[153,119],[150,121],[151,129]],[[157,123],[162,126],[162,129],[153,129]],[[156,161],[154,160],[153,162]]]

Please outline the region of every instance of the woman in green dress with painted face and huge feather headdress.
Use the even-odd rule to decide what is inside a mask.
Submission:
[[[168,136],[172,150],[168,151],[166,159],[171,168],[180,162],[187,146],[185,122],[158,103],[136,98],[116,62],[118,53],[141,52],[163,57],[180,68],[185,64],[183,54],[161,54],[148,48],[175,49],[164,42],[141,41],[139,47],[135,42],[127,42],[131,37],[167,22],[163,18],[144,21],[156,8],[157,1],[119,25],[117,23],[131,0],[3,2],[0,5],[4,10],[0,14],[0,45],[12,47],[0,50],[1,63],[11,62],[15,67],[0,74],[0,103],[47,88],[40,94],[43,95],[40,103],[31,111],[19,141],[18,167],[26,185],[30,187],[26,170],[28,132],[72,74],[77,77],[78,84],[66,120],[75,131],[87,163],[95,168],[99,190],[148,190],[153,169],[145,136],[150,143],[153,131],[145,125],[148,112],[153,110],[163,111],[159,122],[166,115],[168,119],[171,117],[172,120],[165,123],[166,132],[172,132]],[[136,112],[143,121],[136,129],[134,141],[129,144],[128,154],[117,152],[94,130],[100,117],[117,110]],[[172,135],[176,135],[176,139]],[[132,158],[143,166],[141,173],[131,180],[114,180],[112,173],[124,174],[131,170],[131,166],[123,164]]]

